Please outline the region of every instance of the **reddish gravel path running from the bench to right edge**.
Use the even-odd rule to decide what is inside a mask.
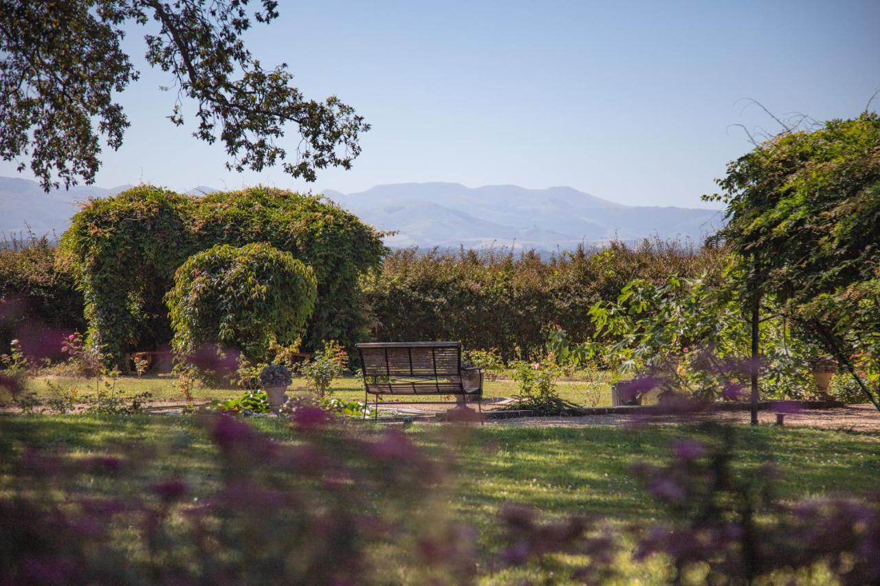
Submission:
[[[729,423],[749,423],[748,411],[715,412],[686,417],[679,415],[585,415],[583,417],[519,417],[500,421],[489,421],[491,425],[511,425],[528,428],[575,428],[582,425],[669,425],[693,421],[724,421]],[[761,424],[774,424],[776,414],[772,411],[759,412]],[[804,409],[785,415],[785,425],[790,427],[810,427],[838,429],[880,434],[880,412],[870,404],[848,405],[834,409]]]

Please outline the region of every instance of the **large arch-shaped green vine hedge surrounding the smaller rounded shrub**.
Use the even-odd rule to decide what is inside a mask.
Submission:
[[[175,270],[214,245],[266,242],[314,269],[316,310],[305,347],[333,338],[352,343],[365,324],[358,277],[378,266],[380,235],[317,195],[270,187],[196,197],[141,186],[92,200],[61,239],[84,296],[88,340],[116,363],[130,348],[171,340],[163,296]]]

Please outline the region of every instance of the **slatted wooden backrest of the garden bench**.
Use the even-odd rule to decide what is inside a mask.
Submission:
[[[464,392],[459,342],[370,342],[357,344],[357,351],[367,392]]]

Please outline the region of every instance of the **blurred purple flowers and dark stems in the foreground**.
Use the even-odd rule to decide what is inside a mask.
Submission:
[[[668,523],[614,528],[511,504],[488,549],[449,509],[454,450],[317,411],[297,413],[290,443],[227,415],[202,425],[216,477],[146,480],[161,452],[150,446],[24,450],[0,493],[0,584],[458,584],[519,566],[596,583],[621,555],[655,554],[670,582],[693,568],[704,582],[749,583],[820,566],[844,584],[880,581],[880,500],[781,502],[772,467],[735,469],[735,431],[717,425],[701,429],[706,442],[673,443],[667,464],[635,467]],[[466,437],[439,433],[445,445]]]

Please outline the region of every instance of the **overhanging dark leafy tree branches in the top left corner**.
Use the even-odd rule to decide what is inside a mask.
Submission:
[[[128,117],[116,94],[138,78],[121,48],[126,25],[158,23],[146,34],[146,60],[170,72],[176,91],[169,116],[184,122],[183,101],[197,104],[194,136],[220,139],[227,168],[285,172],[313,181],[318,169],[348,169],[360,154],[363,117],[335,96],[306,99],[282,63],[265,69],[242,35],[268,24],[277,2],[261,0],[0,0],[0,156],[30,157],[42,187],[92,183],[103,136],[116,150]],[[303,145],[295,160],[275,141],[294,125]],[[18,170],[25,168],[20,162]]]

